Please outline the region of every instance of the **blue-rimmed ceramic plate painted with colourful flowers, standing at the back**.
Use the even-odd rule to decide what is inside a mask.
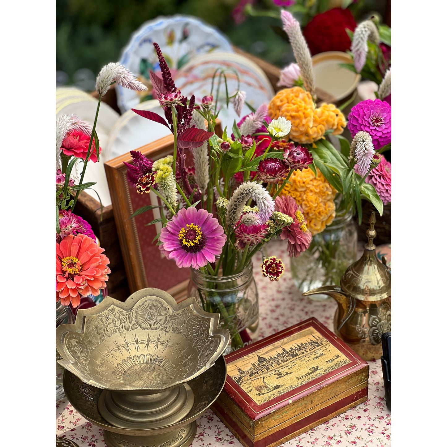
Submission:
[[[147,85],[150,85],[149,71],[160,70],[153,42],[160,46],[174,77],[177,70],[196,55],[213,51],[232,52],[231,43],[219,30],[195,17],[157,17],[145,22],[132,34],[120,59],[120,63]],[[152,99],[150,93],[134,92],[118,85],[118,106],[122,113],[131,108],[138,108],[140,102]]]

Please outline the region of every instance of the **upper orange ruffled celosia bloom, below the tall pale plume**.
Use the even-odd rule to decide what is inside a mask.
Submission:
[[[272,119],[282,116],[292,123],[289,136],[295,143],[313,143],[329,129],[339,135],[346,127],[345,117],[335,105],[316,108],[311,94],[301,87],[280,90],[270,101],[268,113]]]

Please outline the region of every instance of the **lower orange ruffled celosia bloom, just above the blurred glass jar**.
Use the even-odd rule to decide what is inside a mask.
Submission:
[[[293,197],[303,208],[307,227],[312,236],[322,232],[335,217],[334,198],[336,190],[329,184],[319,169],[317,176],[311,169],[296,170],[291,175],[281,194]]]

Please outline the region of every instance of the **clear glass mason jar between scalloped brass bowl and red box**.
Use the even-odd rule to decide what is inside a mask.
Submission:
[[[219,327],[228,329],[231,336],[224,354],[256,341],[259,308],[251,263],[240,273],[229,276],[191,269],[188,296],[195,296],[205,311],[220,314]]]

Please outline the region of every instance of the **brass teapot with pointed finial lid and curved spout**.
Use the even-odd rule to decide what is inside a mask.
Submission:
[[[367,230],[362,257],[351,264],[338,286],[324,286],[303,295],[323,293],[338,303],[334,332],[364,360],[382,356],[382,334],[391,331],[391,273],[386,259],[379,261],[372,240],[375,212]]]

